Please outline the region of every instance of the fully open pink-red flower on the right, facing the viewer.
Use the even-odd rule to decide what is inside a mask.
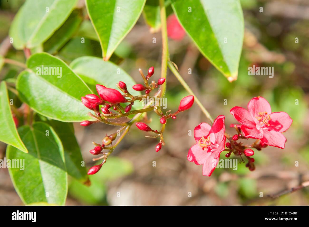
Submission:
[[[282,134],[292,124],[286,112],[271,112],[268,101],[254,97],[248,103],[248,110],[235,106],[230,110],[234,118],[242,124],[245,137],[260,139],[269,146],[284,148],[286,138]]]

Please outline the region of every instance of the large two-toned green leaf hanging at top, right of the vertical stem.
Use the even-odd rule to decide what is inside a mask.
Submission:
[[[243,45],[239,0],[171,0],[173,10],[200,52],[231,82],[237,79]]]

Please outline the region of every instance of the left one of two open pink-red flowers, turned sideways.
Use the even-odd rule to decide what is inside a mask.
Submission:
[[[197,144],[188,152],[188,160],[197,165],[203,165],[203,175],[210,176],[217,166],[220,153],[225,149],[224,115],[218,116],[211,127],[201,123],[194,129]]]

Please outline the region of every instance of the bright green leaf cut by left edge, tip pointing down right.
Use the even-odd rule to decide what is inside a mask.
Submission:
[[[2,81],[0,84],[0,102],[0,141],[28,153],[15,127],[5,81]]]

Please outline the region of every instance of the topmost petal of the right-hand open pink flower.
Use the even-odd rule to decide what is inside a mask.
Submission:
[[[248,103],[248,110],[251,114],[252,119],[259,123],[256,117],[259,116],[259,112],[267,112],[267,114],[271,114],[271,108],[268,101],[263,97],[254,97]]]

